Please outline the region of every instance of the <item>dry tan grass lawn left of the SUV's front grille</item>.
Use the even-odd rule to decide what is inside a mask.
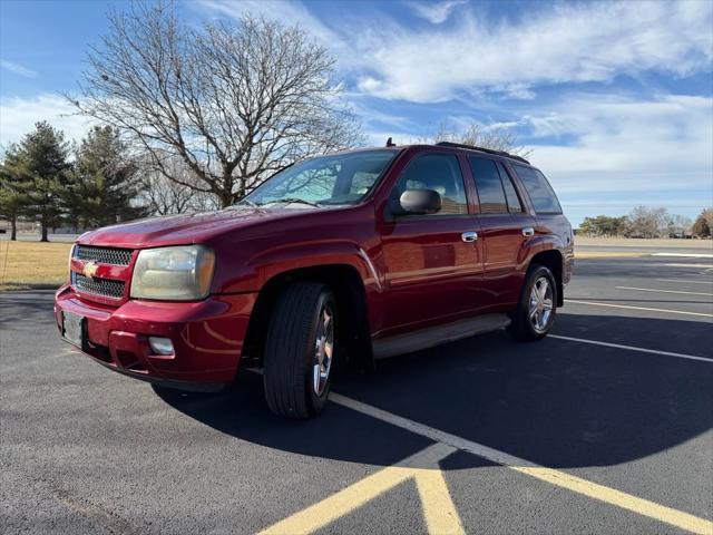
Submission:
[[[58,288],[71,243],[0,241],[0,291]]]

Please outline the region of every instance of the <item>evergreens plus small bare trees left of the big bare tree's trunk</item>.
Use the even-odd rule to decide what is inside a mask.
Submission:
[[[218,207],[215,195],[189,187],[197,178],[180,160],[166,165],[175,181],[131,154],[111,126],[95,126],[74,144],[40,121],[0,157],[0,220],[9,222],[11,240],[22,222],[39,225],[47,241],[58,227],[97,228]]]

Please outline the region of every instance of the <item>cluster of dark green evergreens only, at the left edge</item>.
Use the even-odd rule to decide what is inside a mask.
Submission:
[[[141,184],[117,130],[94,127],[78,145],[46,121],[0,162],[0,217],[38,223],[41,240],[58,226],[96,227],[146,214],[136,202]]]

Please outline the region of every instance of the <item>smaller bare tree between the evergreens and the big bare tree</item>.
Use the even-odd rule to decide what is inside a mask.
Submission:
[[[148,158],[148,163],[150,164],[150,158]],[[207,212],[219,207],[221,203],[217,196],[196,188],[199,186],[199,178],[182,159],[173,158],[165,162],[164,172],[159,172],[150,165],[144,167],[146,171],[140,202],[148,207],[152,214]]]

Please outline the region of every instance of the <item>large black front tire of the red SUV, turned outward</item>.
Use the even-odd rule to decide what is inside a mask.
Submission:
[[[321,388],[318,388],[313,381],[313,368],[318,337],[322,339],[321,333],[325,329],[325,311],[329,311],[332,322],[330,366],[326,379],[324,382],[320,380]],[[324,284],[297,282],[277,298],[267,328],[263,374],[265,399],[275,415],[309,418],[324,408],[330,392],[336,332],[336,302]],[[326,351],[324,343],[321,347]]]

